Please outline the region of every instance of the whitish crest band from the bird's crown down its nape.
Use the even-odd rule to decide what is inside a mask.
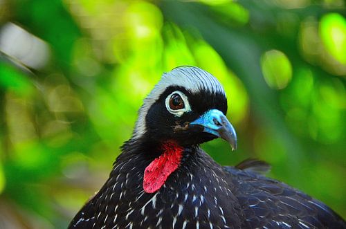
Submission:
[[[140,138],[145,134],[145,116],[152,104],[160,98],[160,95],[169,86],[181,86],[192,93],[199,91],[210,91],[211,93],[225,94],[220,82],[210,73],[201,68],[193,66],[181,66],[174,68],[169,73],[163,73],[161,80],[154,86],[154,89],[144,99],[142,107],[138,111],[138,120],[134,129],[133,138]]]

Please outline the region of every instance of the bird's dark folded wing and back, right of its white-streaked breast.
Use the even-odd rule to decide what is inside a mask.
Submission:
[[[254,172],[266,172],[265,163],[253,161],[239,165],[225,166],[224,170],[233,177],[233,192],[245,214],[245,227],[346,228],[345,221],[324,203]]]

